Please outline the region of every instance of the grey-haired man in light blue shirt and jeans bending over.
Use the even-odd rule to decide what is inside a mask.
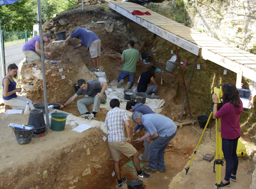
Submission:
[[[176,135],[177,126],[168,117],[161,114],[145,114],[133,112],[132,120],[138,124],[143,124],[147,133],[142,138],[136,139],[135,142],[146,141],[150,146],[150,164],[144,165],[145,170],[156,172],[165,172],[164,149],[168,142]]]

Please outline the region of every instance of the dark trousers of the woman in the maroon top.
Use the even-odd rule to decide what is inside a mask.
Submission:
[[[229,181],[231,173],[236,175],[238,167],[238,157],[236,154],[237,139],[224,139],[223,138],[223,154],[226,161],[225,165],[225,181]]]

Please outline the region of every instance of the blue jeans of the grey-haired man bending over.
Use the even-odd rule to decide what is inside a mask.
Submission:
[[[150,166],[152,169],[156,170],[157,168],[159,168],[165,170],[164,149],[166,148],[168,142],[170,142],[170,140],[172,140],[173,137],[176,135],[176,132],[173,133],[171,136],[158,136],[152,142],[150,146],[150,164],[148,164],[148,166]]]

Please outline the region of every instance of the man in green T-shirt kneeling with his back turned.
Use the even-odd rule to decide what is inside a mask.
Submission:
[[[124,78],[129,77],[129,80],[124,87],[124,90],[130,89],[133,86],[135,80],[136,66],[139,62],[139,51],[133,48],[134,41],[127,42],[128,49],[123,51],[121,62],[124,62],[124,67],[119,75],[117,81],[117,88],[120,88],[124,83]]]

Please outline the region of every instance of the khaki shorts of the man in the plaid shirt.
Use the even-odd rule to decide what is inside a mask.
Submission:
[[[114,161],[120,160],[120,152],[126,157],[133,156],[137,150],[129,142],[117,141],[117,142],[108,142],[109,150],[111,151],[111,156]]]

